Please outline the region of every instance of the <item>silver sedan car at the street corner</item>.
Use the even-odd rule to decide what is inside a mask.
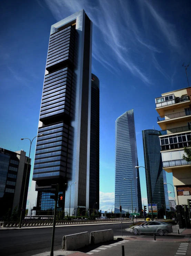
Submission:
[[[172,224],[162,221],[147,221],[139,226],[132,226],[130,232],[134,235],[141,235],[142,233],[155,233],[160,236],[167,236],[172,232]]]

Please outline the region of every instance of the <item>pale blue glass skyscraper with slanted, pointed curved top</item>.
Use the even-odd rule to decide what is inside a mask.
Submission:
[[[134,111],[126,111],[115,121],[115,213],[141,212],[141,188],[139,179],[137,142]],[[125,180],[124,180],[125,178]],[[132,184],[132,200],[131,200]]]

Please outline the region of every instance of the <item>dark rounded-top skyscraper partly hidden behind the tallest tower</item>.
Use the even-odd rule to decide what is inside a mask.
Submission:
[[[99,209],[99,132],[100,132],[100,85],[91,74],[91,126],[90,126],[90,190],[89,208]]]

